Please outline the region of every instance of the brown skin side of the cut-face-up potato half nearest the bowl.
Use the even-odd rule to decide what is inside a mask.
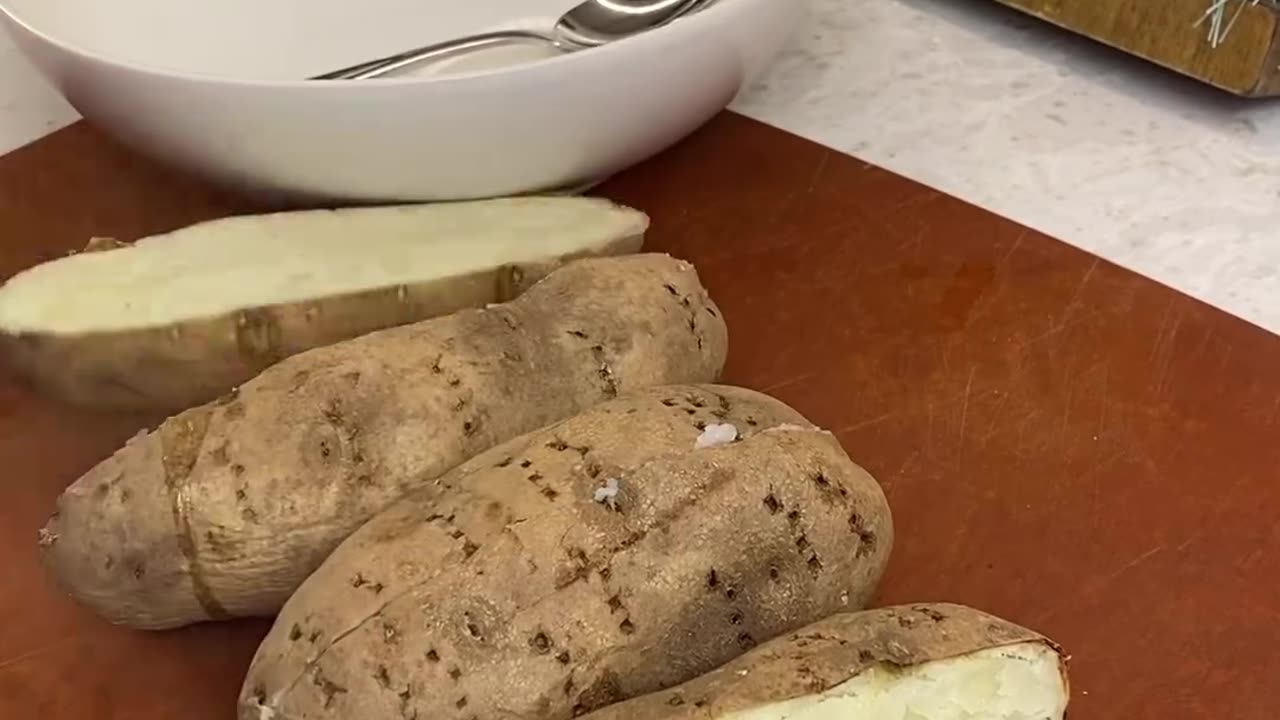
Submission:
[[[91,251],[95,241],[90,245]],[[643,236],[591,256],[639,252]],[[270,365],[353,337],[507,302],[584,255],[483,273],[248,307],[216,318],[124,332],[0,333],[0,352],[37,391],[101,411],[179,413],[243,384]]]

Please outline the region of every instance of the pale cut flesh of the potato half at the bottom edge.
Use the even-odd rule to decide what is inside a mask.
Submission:
[[[1061,659],[1021,643],[911,667],[872,667],[824,693],[719,720],[1061,720]]]

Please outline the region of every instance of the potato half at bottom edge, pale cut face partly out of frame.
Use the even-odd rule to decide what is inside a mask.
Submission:
[[[1061,720],[1048,639],[957,605],[837,615],[582,720]]]

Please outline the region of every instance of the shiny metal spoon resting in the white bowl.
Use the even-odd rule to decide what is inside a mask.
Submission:
[[[716,0],[584,0],[561,15],[549,33],[530,29],[486,32],[379,58],[311,79],[367,79],[511,42],[547,42],[563,53],[598,47],[671,23]]]

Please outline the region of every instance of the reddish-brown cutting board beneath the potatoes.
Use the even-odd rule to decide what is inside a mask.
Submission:
[[[732,328],[726,380],[883,483],[881,602],[1050,633],[1074,717],[1274,720],[1280,338],[736,115],[602,192],[698,264]],[[0,159],[0,277],[247,209],[76,126]],[[0,717],[233,720],[265,621],[113,628],[37,565],[58,493],[154,420],[0,379]]]

